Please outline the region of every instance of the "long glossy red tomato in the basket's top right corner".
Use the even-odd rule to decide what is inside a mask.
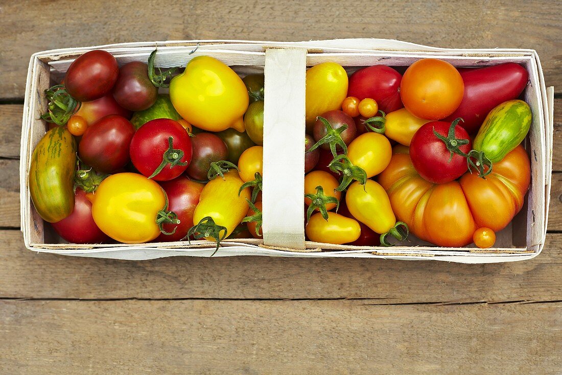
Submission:
[[[459,69],[464,82],[464,96],[460,106],[445,120],[463,118],[469,134],[478,132],[486,115],[496,106],[519,97],[527,86],[529,73],[515,62],[478,69]]]

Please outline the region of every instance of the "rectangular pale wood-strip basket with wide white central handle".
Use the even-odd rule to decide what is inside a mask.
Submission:
[[[81,53],[105,49],[120,65],[144,61],[158,48],[156,65],[185,66],[207,55],[232,66],[241,75],[265,71],[264,183],[262,202],[264,241],[227,240],[215,256],[269,255],[298,257],[378,257],[432,259],[461,263],[494,263],[531,259],[545,243],[552,178],[552,113],[554,89],[546,88],[541,64],[533,49],[447,49],[386,39],[336,39],[310,42],[190,40],[109,44],[88,48],[54,49],[35,53],[29,63],[21,136],[21,230],[33,251],[113,259],[155,259],[165,256],[210,256],[208,241],[142,243],[138,245],[76,245],[64,243],[31,203],[28,187],[30,156],[46,132],[40,114],[47,103],[43,91],[60,81]],[[196,49],[195,52],[190,52]],[[362,66],[408,66],[435,57],[455,66],[486,66],[516,62],[529,72],[525,100],[533,123],[525,141],[531,157],[532,180],[523,210],[497,233],[498,247],[444,248],[411,238],[410,246],[357,247],[305,242],[304,134],[306,68],[333,61],[348,71]],[[279,199],[280,198],[280,199]]]

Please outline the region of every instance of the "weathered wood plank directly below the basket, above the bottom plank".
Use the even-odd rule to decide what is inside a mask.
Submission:
[[[533,260],[466,265],[259,256],[139,262],[70,258],[36,254],[24,248],[21,233],[0,231],[0,297],[562,300],[562,234],[549,234],[545,251]]]

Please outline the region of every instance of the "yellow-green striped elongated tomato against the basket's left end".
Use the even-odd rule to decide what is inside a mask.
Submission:
[[[74,210],[76,142],[66,126],[49,130],[35,147],[29,168],[29,192],[39,215],[58,222]]]

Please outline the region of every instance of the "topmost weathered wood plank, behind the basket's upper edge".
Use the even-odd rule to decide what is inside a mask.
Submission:
[[[3,1],[0,98],[24,96],[31,53],[59,47],[170,39],[309,40],[389,38],[437,47],[535,48],[546,83],[562,90],[562,3],[471,0],[258,3]],[[135,9],[131,12],[131,9]],[[337,11],[327,12],[332,9]],[[357,10],[361,10],[358,12]],[[275,17],[272,19],[271,15]],[[436,22],[436,20],[438,20]],[[92,22],[94,21],[94,24]],[[90,25],[93,27],[85,27]]]

